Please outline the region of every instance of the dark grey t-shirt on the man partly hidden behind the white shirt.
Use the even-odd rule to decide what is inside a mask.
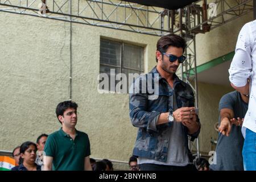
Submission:
[[[234,118],[240,117],[242,119],[245,117],[248,104],[243,102],[239,92],[234,91],[225,94],[221,98],[219,111],[225,108],[234,111]],[[218,123],[220,124],[220,118]],[[219,133],[216,147],[216,164],[210,165],[210,169],[214,171],[242,171],[243,140],[241,126],[232,125],[229,137]]]

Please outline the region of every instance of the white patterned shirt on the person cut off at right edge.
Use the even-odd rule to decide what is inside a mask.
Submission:
[[[250,100],[242,126],[256,133],[256,20],[246,23],[238,35],[235,55],[229,68],[229,80],[237,87],[245,86],[250,78]]]

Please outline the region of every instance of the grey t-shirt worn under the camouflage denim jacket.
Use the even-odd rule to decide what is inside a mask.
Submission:
[[[168,86],[168,89],[171,89]],[[176,103],[176,96],[175,92],[172,94],[172,105],[174,110],[177,108]],[[151,163],[151,164],[161,164],[161,165],[168,165],[168,166],[187,166],[189,164],[188,158],[188,149],[184,135],[184,130],[182,127],[182,123],[180,122],[173,122],[170,127],[167,128],[167,134],[169,135],[169,143],[168,143],[168,154],[167,154],[167,161],[160,162],[154,159],[147,159],[147,158],[138,158],[138,164],[143,163]]]

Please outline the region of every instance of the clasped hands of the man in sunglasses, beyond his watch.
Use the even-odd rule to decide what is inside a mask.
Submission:
[[[173,113],[174,121],[191,123],[191,119],[196,115],[195,107],[180,107]]]

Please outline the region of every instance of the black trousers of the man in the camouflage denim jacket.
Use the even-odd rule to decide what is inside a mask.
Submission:
[[[141,171],[197,171],[193,164],[188,164],[187,166],[166,166],[159,164],[139,164],[139,169]]]

